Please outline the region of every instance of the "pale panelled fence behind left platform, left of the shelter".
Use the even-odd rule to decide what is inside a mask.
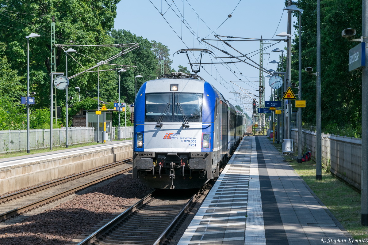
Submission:
[[[92,142],[93,127],[68,127],[68,144]],[[53,146],[65,145],[65,128],[53,129]],[[29,130],[30,149],[50,147],[50,129]],[[0,153],[24,151],[27,149],[27,130],[0,131]]]

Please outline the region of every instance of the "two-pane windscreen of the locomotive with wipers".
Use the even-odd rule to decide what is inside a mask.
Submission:
[[[203,94],[152,93],[146,94],[146,122],[202,122]],[[173,107],[174,105],[174,107]]]

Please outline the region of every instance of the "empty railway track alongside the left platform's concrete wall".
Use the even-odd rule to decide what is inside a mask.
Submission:
[[[93,184],[128,172],[132,169],[131,166],[116,168],[129,161],[131,158],[0,197],[0,221],[22,215]]]

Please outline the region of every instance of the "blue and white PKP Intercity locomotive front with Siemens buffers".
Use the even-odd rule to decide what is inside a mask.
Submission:
[[[216,98],[203,80],[145,82],[135,99],[133,178],[151,188],[186,189],[218,176]]]

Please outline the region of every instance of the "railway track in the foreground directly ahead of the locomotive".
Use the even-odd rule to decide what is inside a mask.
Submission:
[[[165,244],[188,216],[202,190],[153,191],[79,243],[72,244]]]

